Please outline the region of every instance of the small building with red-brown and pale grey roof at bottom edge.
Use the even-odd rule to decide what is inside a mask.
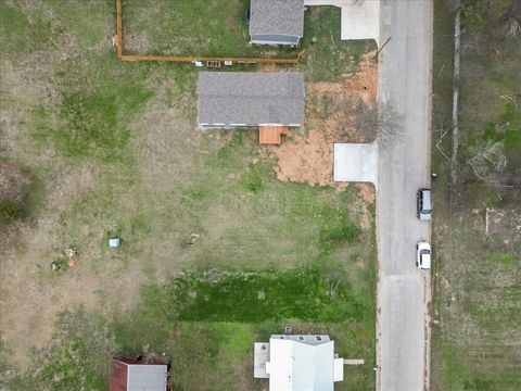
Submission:
[[[109,377],[109,391],[168,391],[164,364],[114,360]]]

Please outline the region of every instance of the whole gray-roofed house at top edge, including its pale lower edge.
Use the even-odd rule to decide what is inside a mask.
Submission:
[[[252,43],[297,46],[303,35],[304,0],[252,0]]]

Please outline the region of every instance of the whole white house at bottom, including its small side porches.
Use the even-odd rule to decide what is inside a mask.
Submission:
[[[270,391],[332,391],[344,361],[329,336],[272,335],[254,344],[254,377],[269,379]]]

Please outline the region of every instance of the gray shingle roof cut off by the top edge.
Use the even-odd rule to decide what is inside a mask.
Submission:
[[[250,35],[304,34],[304,0],[252,0]]]

